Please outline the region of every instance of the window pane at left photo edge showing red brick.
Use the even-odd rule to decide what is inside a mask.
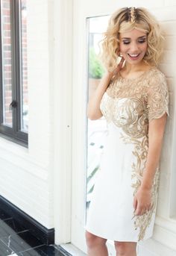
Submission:
[[[10,0],[1,0],[1,52],[2,52],[2,84],[3,84],[3,124],[12,127],[12,53]]]

